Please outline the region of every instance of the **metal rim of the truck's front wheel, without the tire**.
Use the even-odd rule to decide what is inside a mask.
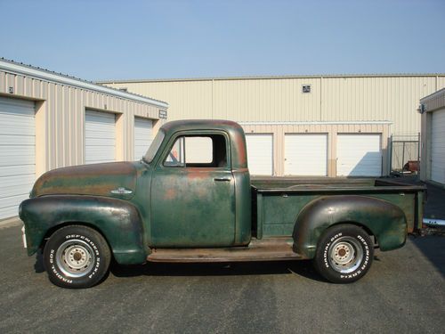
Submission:
[[[93,248],[84,240],[68,240],[56,252],[56,263],[61,272],[69,277],[82,277],[94,265]]]

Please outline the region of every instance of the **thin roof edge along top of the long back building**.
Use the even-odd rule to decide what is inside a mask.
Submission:
[[[445,77],[445,73],[394,73],[394,74],[319,74],[319,75],[288,75],[288,76],[251,76],[251,77],[189,77],[189,78],[155,78],[155,79],[118,79],[99,80],[96,84],[132,84],[149,82],[179,81],[216,81],[216,80],[267,80],[267,79],[298,79],[322,77]]]

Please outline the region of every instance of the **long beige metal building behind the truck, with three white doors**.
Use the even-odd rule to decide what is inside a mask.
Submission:
[[[226,77],[101,84],[168,101],[169,120],[238,121],[247,132],[249,167],[255,175],[375,176],[389,174],[392,135],[418,134],[418,100],[444,87],[445,75]]]

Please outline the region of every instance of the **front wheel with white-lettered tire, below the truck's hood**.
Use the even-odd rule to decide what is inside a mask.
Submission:
[[[109,271],[111,253],[101,233],[82,225],[53,232],[44,246],[44,267],[50,281],[63,288],[90,288]]]

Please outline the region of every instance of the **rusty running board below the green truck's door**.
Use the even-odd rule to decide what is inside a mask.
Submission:
[[[283,261],[303,257],[293,249],[289,238],[268,238],[252,241],[247,246],[229,248],[152,248],[150,262],[242,262]]]

